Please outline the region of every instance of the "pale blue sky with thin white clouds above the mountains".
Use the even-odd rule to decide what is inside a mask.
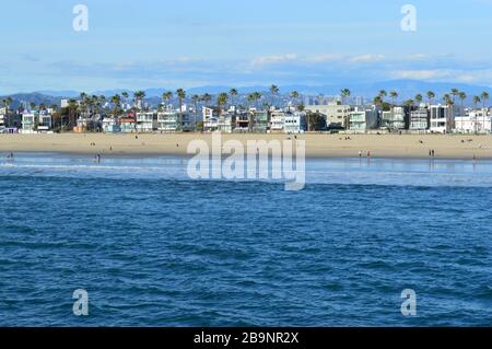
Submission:
[[[89,31],[75,32],[75,4]],[[403,32],[401,7],[417,9]],[[492,85],[492,0],[16,0],[0,93],[394,79]]]

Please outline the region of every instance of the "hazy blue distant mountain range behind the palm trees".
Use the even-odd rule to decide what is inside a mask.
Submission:
[[[188,96],[194,94],[218,94],[221,92],[230,91],[232,86],[226,85],[209,85],[209,86],[199,86],[187,89]],[[251,93],[255,91],[260,91],[268,93],[269,86],[266,85],[254,85],[254,86],[234,86],[236,88],[241,94]],[[374,97],[380,90],[397,91],[399,94],[398,100],[403,101],[408,98],[413,98],[418,93],[421,93],[425,97],[425,93],[427,91],[433,91],[436,94],[436,101],[440,100],[445,93],[448,93],[452,89],[458,89],[459,91],[464,91],[468,94],[467,103],[471,102],[473,95],[480,95],[483,91],[490,90],[487,86],[480,85],[470,85],[462,83],[446,83],[446,82],[423,82],[417,80],[393,80],[393,81],[380,81],[374,83],[347,83],[345,85],[340,84],[324,84],[324,85],[303,85],[303,84],[291,84],[291,85],[280,85],[281,93],[290,93],[291,91],[297,91],[304,95],[339,95],[341,89],[350,89],[352,96],[362,96],[365,98]],[[175,89],[147,89],[145,95],[147,97],[154,103],[161,95],[166,91],[174,91]],[[106,91],[93,91],[87,92],[93,95],[105,95],[106,97],[113,96],[115,94],[121,94],[122,92],[129,92],[131,95],[133,93],[132,90],[106,90]],[[16,93],[10,95],[13,100],[13,106],[16,107],[22,102],[25,103],[36,103],[36,104],[46,104],[60,105],[61,98],[77,98],[80,95],[79,91],[37,91],[33,93]],[[0,97],[2,98],[2,97]]]

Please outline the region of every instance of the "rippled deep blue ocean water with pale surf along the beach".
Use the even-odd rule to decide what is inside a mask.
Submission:
[[[0,161],[0,325],[492,325],[492,162],[308,160],[302,191],[186,164]]]

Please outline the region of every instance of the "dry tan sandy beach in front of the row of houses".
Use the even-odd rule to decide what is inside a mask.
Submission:
[[[286,140],[288,135],[230,135],[222,141]],[[210,133],[55,133],[55,135],[0,135],[0,152],[66,152],[112,155],[189,155],[190,141],[212,141]],[[358,158],[359,152],[372,158],[427,159],[435,151],[436,159],[492,159],[492,136],[443,135],[302,135],[308,158]]]

